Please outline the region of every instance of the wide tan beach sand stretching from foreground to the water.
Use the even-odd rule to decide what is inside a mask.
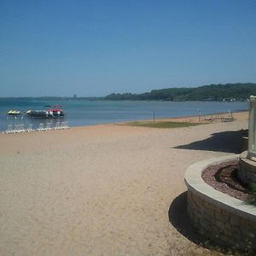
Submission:
[[[1,134],[0,254],[218,255],[190,229],[183,177],[195,161],[237,153],[248,113],[234,117]]]

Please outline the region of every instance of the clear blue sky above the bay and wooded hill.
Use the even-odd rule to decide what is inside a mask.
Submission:
[[[255,0],[0,1],[0,96],[256,82]]]

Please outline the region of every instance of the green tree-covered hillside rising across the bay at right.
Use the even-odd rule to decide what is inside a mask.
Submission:
[[[151,90],[143,94],[110,94],[105,100],[121,101],[245,101],[256,95],[256,84],[210,84],[196,88]]]

